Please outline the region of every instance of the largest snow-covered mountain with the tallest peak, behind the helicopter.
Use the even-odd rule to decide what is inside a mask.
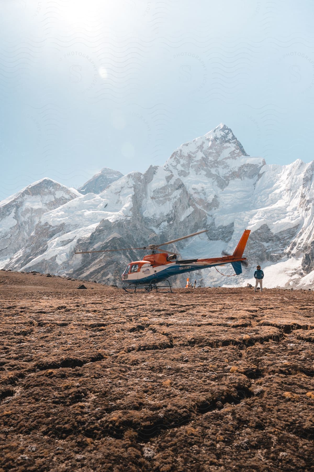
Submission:
[[[77,196],[46,212],[6,268],[120,283],[128,261],[145,251],[75,255],[78,250],[139,247],[207,233],[167,249],[184,258],[233,252],[251,229],[249,270],[225,278],[215,269],[193,273],[201,285],[246,285],[260,263],[268,287],[314,283],[314,162],[266,165],[250,157],[227,126],[182,144],[159,166],[131,172],[100,194]],[[232,275],[225,266],[224,274]],[[182,283],[182,281],[181,281]]]

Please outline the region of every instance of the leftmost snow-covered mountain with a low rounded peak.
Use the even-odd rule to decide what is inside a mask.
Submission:
[[[79,194],[47,177],[23,188],[0,202],[0,267],[29,241],[44,213],[76,198]]]

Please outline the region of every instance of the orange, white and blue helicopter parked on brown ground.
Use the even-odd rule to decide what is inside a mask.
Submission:
[[[242,257],[246,243],[250,236],[250,230],[245,229],[241,239],[235,248],[233,254],[222,253],[221,257],[214,257],[208,259],[186,259],[177,260],[177,253],[171,251],[162,252],[160,248],[168,244],[182,241],[183,239],[205,233],[207,229],[192,233],[187,236],[173,239],[161,244],[149,244],[144,247],[129,247],[123,249],[104,249],[99,251],[82,251],[76,252],[75,254],[87,254],[87,253],[107,253],[107,252],[118,252],[118,251],[130,251],[130,250],[144,250],[151,251],[150,254],[143,257],[140,261],[132,261],[128,264],[126,269],[121,275],[121,280],[128,287],[124,287],[127,290],[130,287],[136,291],[137,287],[144,288],[147,291],[155,289],[158,291],[158,287],[170,287],[171,285],[168,280],[173,275],[183,274],[185,272],[192,272],[193,270],[201,270],[209,267],[223,266],[225,264],[231,264],[235,272],[234,275],[240,275],[242,273],[242,264],[247,266],[246,257]],[[167,281],[167,286],[161,286],[161,282]]]

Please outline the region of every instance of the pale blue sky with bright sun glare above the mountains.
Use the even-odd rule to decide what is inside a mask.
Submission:
[[[313,160],[314,3],[0,0],[0,200],[161,165],[224,122]]]

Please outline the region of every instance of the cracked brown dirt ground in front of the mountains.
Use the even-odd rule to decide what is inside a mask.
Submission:
[[[0,471],[314,471],[313,305],[1,270]]]

